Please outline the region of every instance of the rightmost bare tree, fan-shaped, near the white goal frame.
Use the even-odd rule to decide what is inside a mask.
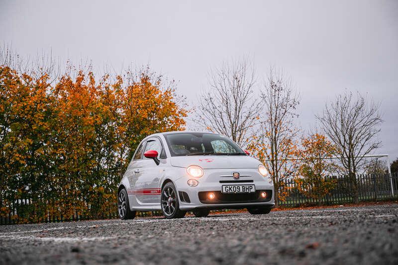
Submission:
[[[326,104],[322,115],[316,116],[337,147],[340,162],[350,179],[355,203],[358,203],[356,174],[366,164],[364,156],[381,146],[377,137],[383,122],[379,107],[359,92],[353,98],[353,94],[346,91]]]

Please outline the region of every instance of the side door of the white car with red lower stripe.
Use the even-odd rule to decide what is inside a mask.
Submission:
[[[163,145],[158,137],[151,137],[146,141],[144,152],[155,150],[158,152],[158,159],[163,153]],[[161,165],[156,165],[155,161],[150,158],[142,157],[140,167],[135,182],[135,195],[140,203],[160,203],[160,186],[159,179],[163,177],[164,168]]]

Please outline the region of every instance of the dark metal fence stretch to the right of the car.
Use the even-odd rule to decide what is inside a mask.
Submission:
[[[335,186],[321,198],[320,204],[333,205],[354,202],[354,186],[347,176],[328,177]],[[359,175],[356,177],[359,201],[381,201],[398,198],[398,173],[385,175]],[[288,207],[318,205],[319,200],[303,195],[294,179],[287,179],[283,187],[287,195],[279,204]]]

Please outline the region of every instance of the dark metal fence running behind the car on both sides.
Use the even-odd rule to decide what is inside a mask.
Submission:
[[[348,177],[338,176],[329,177],[335,179],[335,187],[325,196],[321,198],[321,204],[332,205],[354,202],[353,187]],[[390,177],[386,175],[360,175],[356,178],[358,187],[359,201],[380,201],[398,198],[398,174],[393,174]],[[302,205],[317,205],[319,201],[314,198],[306,197],[298,189],[295,180],[290,179],[285,181],[285,191],[288,193],[284,200],[280,201],[281,206],[299,207]],[[65,219],[62,216],[62,209],[56,213],[46,212],[46,207],[37,209],[35,205],[46,205],[52,203],[51,201],[41,201],[39,204],[33,203],[31,199],[18,199],[12,204],[10,212],[7,216],[0,217],[0,224],[16,224],[26,222],[22,220],[23,216],[30,214],[43,216],[37,219],[36,222],[63,222],[63,221],[79,221],[93,219],[93,217],[86,217],[76,212],[72,218]],[[45,211],[45,212],[40,212]],[[138,216],[157,216],[161,212],[137,212]],[[117,218],[116,202],[114,203],[114,210],[107,213],[102,213],[95,219],[112,219]]]

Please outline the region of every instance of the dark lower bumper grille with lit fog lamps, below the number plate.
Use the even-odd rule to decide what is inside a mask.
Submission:
[[[260,193],[267,192],[267,197],[261,198]],[[209,199],[208,193],[214,193],[214,198]],[[221,191],[199,191],[199,200],[204,204],[227,204],[227,203],[250,203],[250,202],[267,202],[272,198],[272,189],[256,190],[253,193],[221,193]]]

